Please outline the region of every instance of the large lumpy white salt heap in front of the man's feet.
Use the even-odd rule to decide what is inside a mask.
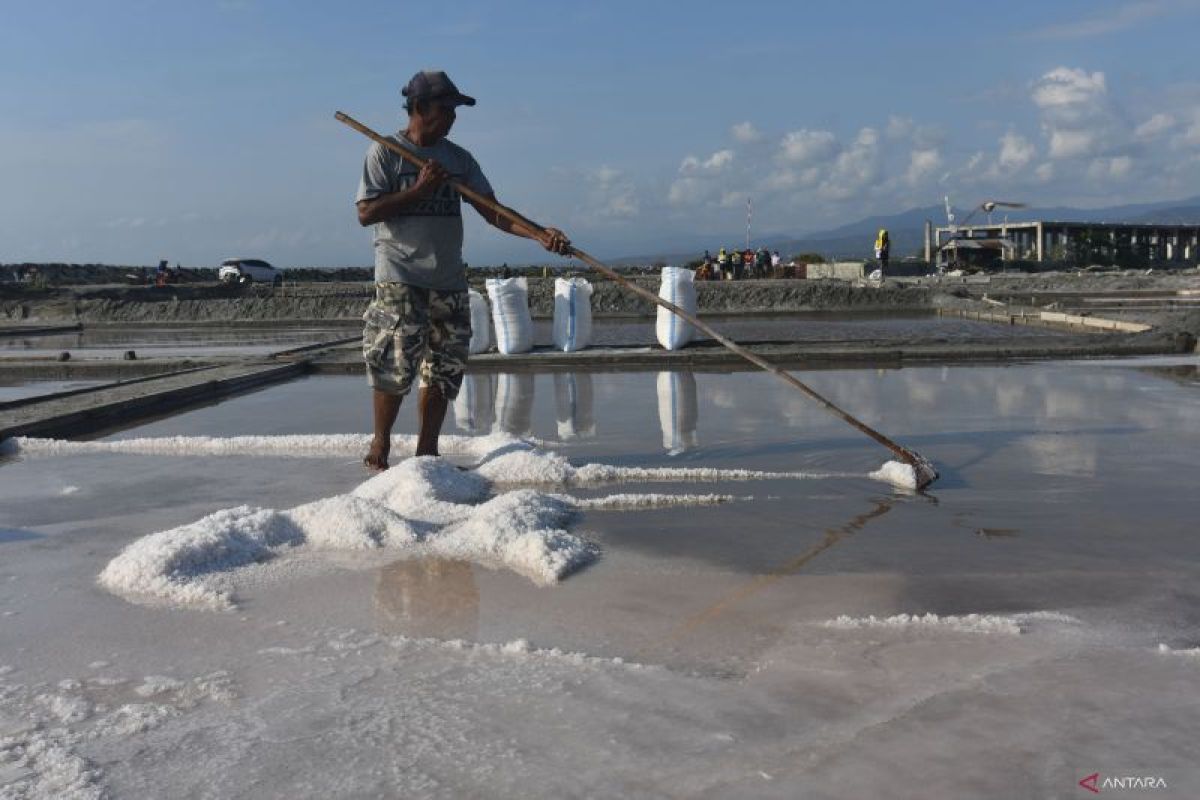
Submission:
[[[144,536],[114,558],[101,585],[186,606],[233,604],[226,585],[238,567],[289,549],[389,548],[503,566],[552,584],[595,559],[570,534],[574,505],[532,489],[490,498],[488,482],[433,457],[409,458],[349,494],[275,511],[239,506]]]

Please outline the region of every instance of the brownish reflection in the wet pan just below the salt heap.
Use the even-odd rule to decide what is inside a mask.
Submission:
[[[479,634],[479,587],[467,561],[418,559],[379,570],[376,627],[415,638],[469,639]]]

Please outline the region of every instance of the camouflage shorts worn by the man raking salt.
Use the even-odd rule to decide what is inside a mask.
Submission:
[[[377,283],[362,321],[362,359],[374,389],[407,395],[420,365],[425,384],[439,387],[446,399],[458,396],[470,343],[466,291]]]

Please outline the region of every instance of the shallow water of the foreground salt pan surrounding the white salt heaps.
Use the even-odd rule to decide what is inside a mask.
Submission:
[[[40,696],[60,716],[162,706],[138,734],[96,710],[55,723],[91,739],[55,739],[53,717],[20,734],[92,759],[120,795],[1070,796],[1102,770],[1194,796],[1198,367],[799,373],[930,458],[928,495],[868,479],[888,452],[766,374],[472,375],[446,433],[505,428],[576,465],[845,475],[622,486],[752,499],[587,512],[574,531],[601,557],[553,588],[308,555],[258,567],[234,613],[136,606],[94,579],[217,509],[346,492],[356,455],[10,458],[0,724],[48,714]],[[106,440],[362,432],[367,403],[361,379],[314,377]],[[481,649],[515,640],[532,644]],[[154,693],[155,675],[180,686]],[[13,774],[0,758],[0,784]]]

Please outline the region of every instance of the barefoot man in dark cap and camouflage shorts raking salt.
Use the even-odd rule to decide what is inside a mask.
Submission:
[[[374,438],[364,464],[388,469],[391,428],[412,389],[418,365],[420,433],[418,456],[437,456],[449,401],[458,395],[470,341],[470,303],[462,263],[462,196],[454,180],[492,200],[487,178],[464,149],[446,139],[456,108],[475,100],[458,91],[445,72],[418,72],[403,89],[408,126],[394,139],[426,158],[418,169],[383,145],[367,150],[355,198],[359,224],[374,225],[376,299],[362,315],[362,355],[372,387]],[[514,224],[468,199],[493,227],[539,239],[554,253],[570,252],[556,228],[545,236]]]

